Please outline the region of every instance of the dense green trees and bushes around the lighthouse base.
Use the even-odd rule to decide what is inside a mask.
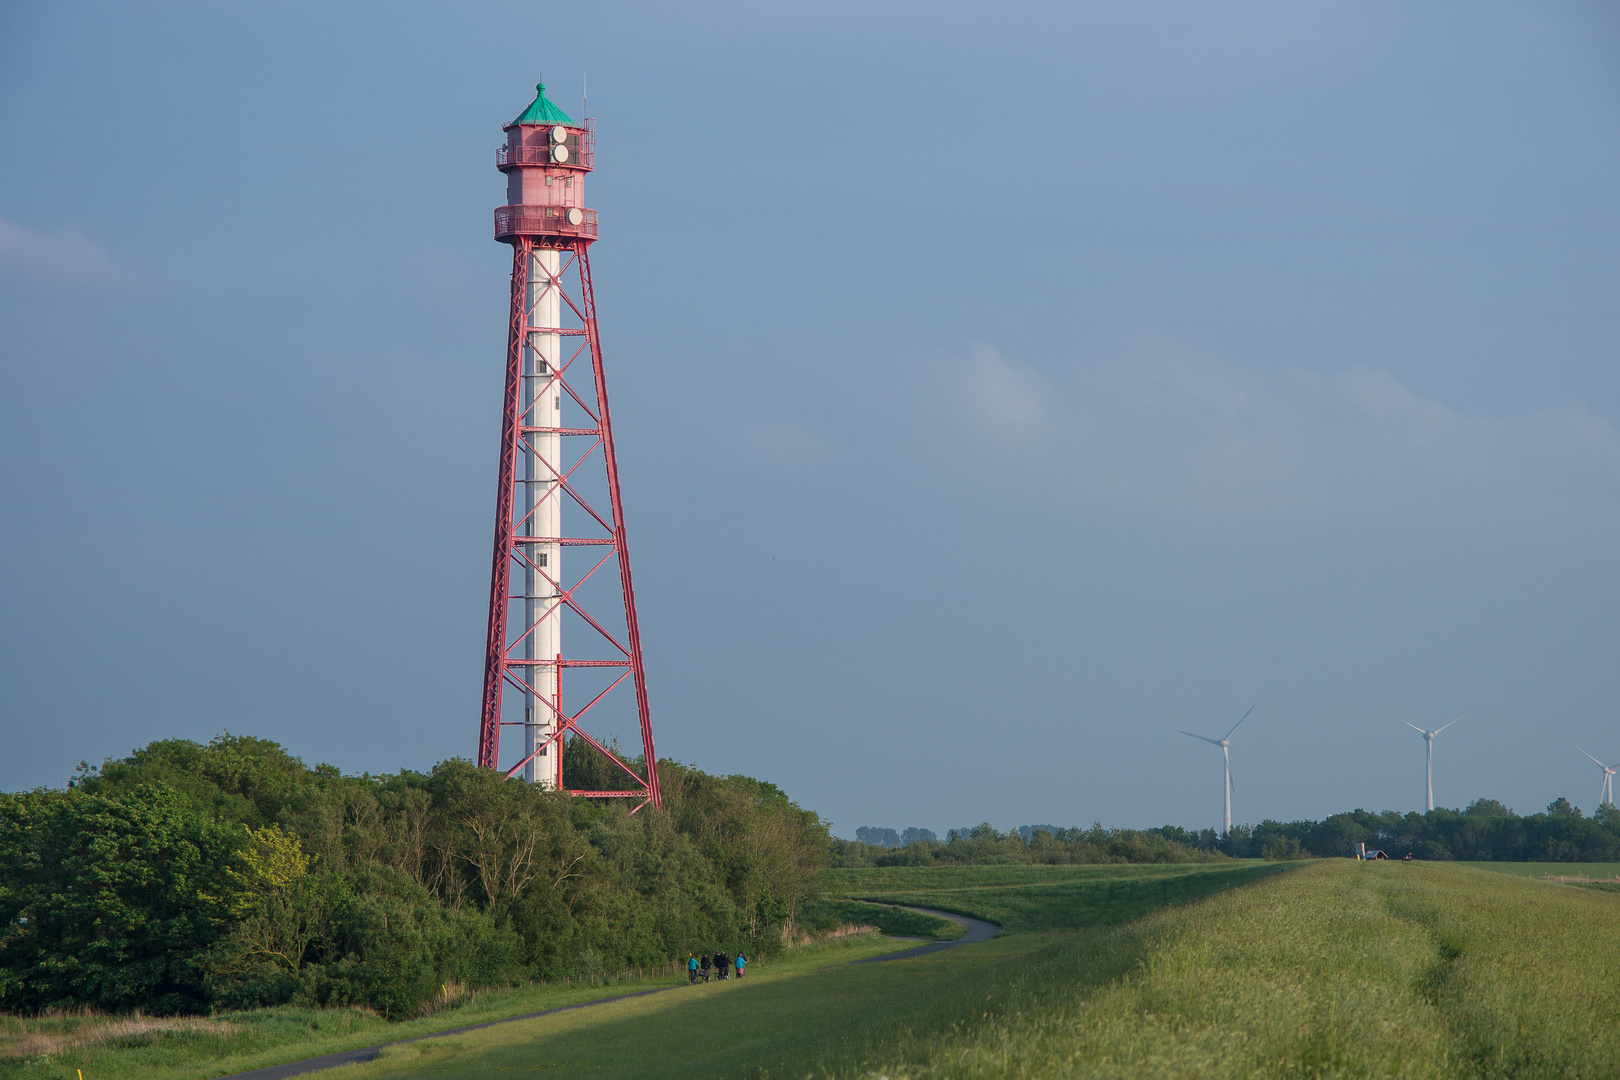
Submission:
[[[616,784],[583,746],[564,769]],[[81,766],[66,790],[0,795],[0,1010],[400,1018],[449,980],[779,949],[826,866],[826,824],[750,777],[661,761],[659,779],[666,811],[630,814],[468,761],[342,776],[233,735]]]

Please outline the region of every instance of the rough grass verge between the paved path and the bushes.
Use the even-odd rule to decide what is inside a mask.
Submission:
[[[902,942],[875,933],[834,938],[768,960],[750,960],[748,981],[768,973],[779,976],[808,972],[904,947]],[[596,984],[484,991],[458,1007],[405,1023],[389,1023],[368,1009],[290,1006],[227,1012],[207,1020],[99,1017],[87,1012],[39,1018],[0,1015],[0,1078],[78,1080],[78,1070],[83,1070],[84,1080],[206,1080],[582,1001],[684,986],[685,981],[682,970]]]

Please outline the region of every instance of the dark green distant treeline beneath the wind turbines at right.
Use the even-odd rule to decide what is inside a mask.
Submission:
[[[1494,798],[1468,810],[1430,810],[1426,814],[1385,810],[1353,810],[1322,821],[1262,821],[1236,826],[1228,837],[1213,829],[1189,832],[1165,826],[1160,832],[1178,844],[1239,858],[1348,857],[1358,842],[1392,858],[1460,858],[1473,861],[1620,861],[1620,811],[1614,803],[1591,818],[1557,798],[1545,813],[1520,816]]]

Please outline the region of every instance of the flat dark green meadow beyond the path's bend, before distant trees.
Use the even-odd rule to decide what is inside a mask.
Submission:
[[[1124,923],[1267,878],[1291,863],[889,866],[831,870],[828,891],[990,920],[1009,931]]]

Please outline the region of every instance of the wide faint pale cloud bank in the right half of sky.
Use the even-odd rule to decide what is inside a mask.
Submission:
[[[1573,402],[1468,415],[1382,371],[1247,368],[1149,334],[1045,374],[988,347],[944,366],[949,431],[935,416],[933,440],[966,434],[985,465],[1068,497],[1204,518],[1620,525],[1620,432]]]

